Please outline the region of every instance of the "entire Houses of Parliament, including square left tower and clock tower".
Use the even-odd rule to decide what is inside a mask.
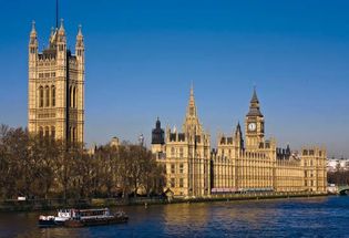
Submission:
[[[75,51],[66,48],[63,21],[51,30],[39,52],[33,22],[29,40],[28,130],[72,143],[84,138],[84,38],[79,27]],[[248,190],[326,192],[326,149],[277,148],[265,138],[265,117],[256,91],[245,125],[219,134],[217,148],[199,122],[191,89],[182,132],[161,127],[152,132],[152,152],[164,167],[166,186],[175,196],[204,197]]]

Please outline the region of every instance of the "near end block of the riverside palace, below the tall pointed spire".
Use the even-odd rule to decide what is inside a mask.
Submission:
[[[167,187],[174,195],[211,194],[211,136],[199,123],[193,87],[182,132],[167,128],[165,143],[153,139],[152,151],[163,164]]]

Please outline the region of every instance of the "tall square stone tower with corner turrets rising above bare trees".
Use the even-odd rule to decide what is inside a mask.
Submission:
[[[61,21],[39,52],[33,22],[29,42],[28,130],[72,143],[84,138],[84,40],[79,27],[75,54],[66,49]]]

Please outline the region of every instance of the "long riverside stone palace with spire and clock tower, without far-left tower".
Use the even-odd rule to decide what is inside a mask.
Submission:
[[[153,138],[158,138],[158,132],[162,131],[157,120]],[[217,148],[211,151],[211,136],[199,124],[192,89],[182,132],[167,128],[165,141],[153,139],[152,152],[164,166],[165,189],[175,196],[326,192],[326,149],[311,147],[298,153],[289,146],[277,148],[275,138],[266,139],[256,91],[245,118],[245,138],[238,124],[230,136],[219,134]]]

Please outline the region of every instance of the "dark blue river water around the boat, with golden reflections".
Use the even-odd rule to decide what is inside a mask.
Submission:
[[[40,213],[2,213],[0,237],[349,237],[348,196],[122,209],[129,224],[74,229],[40,229]]]

